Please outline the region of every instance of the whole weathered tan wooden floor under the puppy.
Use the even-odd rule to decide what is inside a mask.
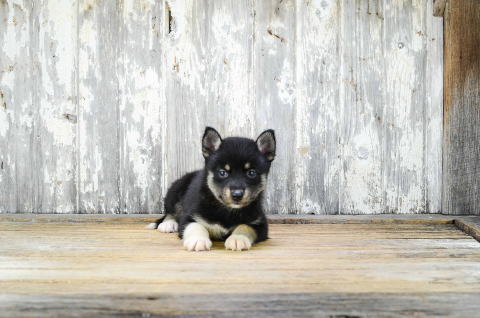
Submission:
[[[250,251],[187,252],[148,220],[0,221],[0,317],[480,317],[480,243],[453,221],[270,224]]]

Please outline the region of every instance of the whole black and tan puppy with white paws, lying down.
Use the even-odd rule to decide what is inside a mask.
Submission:
[[[265,130],[257,141],[222,140],[214,128],[207,127],[202,139],[205,168],[171,185],[165,197],[165,217],[147,228],[178,231],[189,251],[209,250],[211,239],[225,241],[226,249],[238,251],[266,240],[262,194],[275,146],[273,130]]]

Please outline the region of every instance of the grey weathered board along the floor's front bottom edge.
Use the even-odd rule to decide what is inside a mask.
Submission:
[[[205,301],[203,294],[96,295],[0,295],[5,317],[172,317],[172,318],[409,318],[480,317],[476,293],[284,293],[215,294],[221,299]],[[219,310],[221,307],[221,311]],[[21,310],[21,312],[20,312]],[[413,314],[413,315],[414,315]]]

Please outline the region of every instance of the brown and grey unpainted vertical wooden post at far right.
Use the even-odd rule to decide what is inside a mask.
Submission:
[[[480,215],[480,2],[445,10],[443,200],[448,214]]]

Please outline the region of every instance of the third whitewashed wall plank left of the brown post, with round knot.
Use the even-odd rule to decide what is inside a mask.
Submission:
[[[384,4],[342,8],[341,213],[384,212]],[[390,21],[393,22],[393,21]]]

